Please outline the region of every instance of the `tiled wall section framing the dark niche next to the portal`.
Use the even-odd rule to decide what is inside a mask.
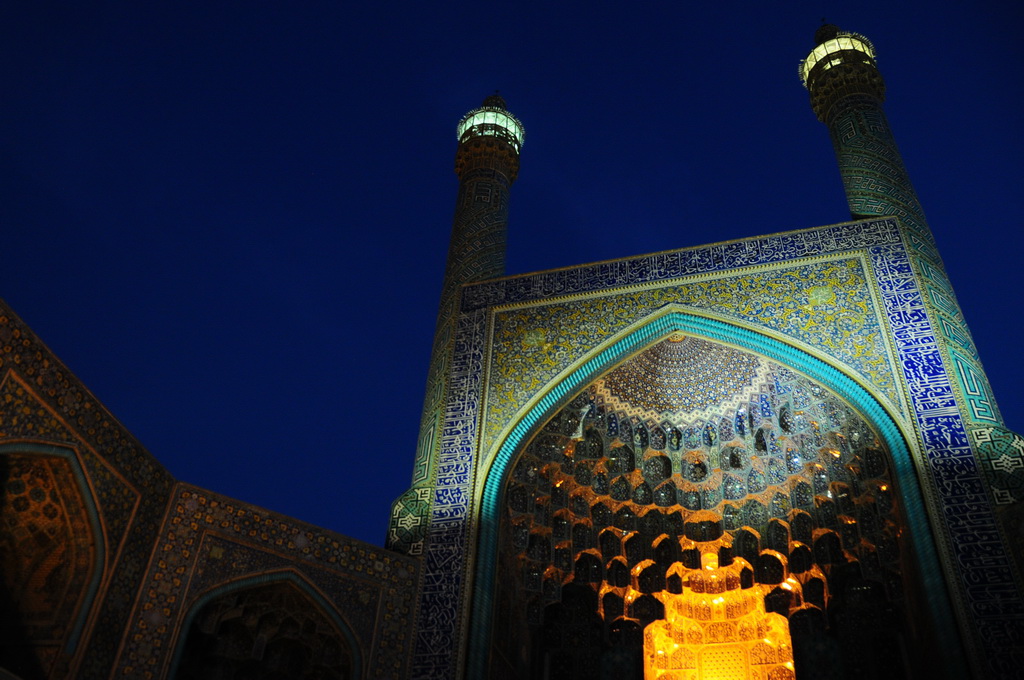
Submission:
[[[211,592],[285,577],[340,612],[366,654],[364,677],[406,677],[418,568],[413,558],[179,483],[132,610],[119,677],[167,677],[188,617]]]

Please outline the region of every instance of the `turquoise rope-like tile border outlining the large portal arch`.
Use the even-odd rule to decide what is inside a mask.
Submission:
[[[477,564],[474,569],[476,578],[473,580],[467,677],[482,678],[486,673],[487,643],[490,639],[494,611],[494,575],[502,487],[515,455],[543,424],[546,416],[564,405],[575,391],[590,384],[616,363],[674,332],[690,333],[725,342],[794,368],[848,399],[870,420],[889,447],[900,491],[900,502],[910,527],[918,569],[936,632],[946,650],[958,649],[959,639],[953,627],[952,609],[925,511],[916,470],[906,440],[889,412],[866,389],[841,370],[803,349],[731,323],[670,310],[655,318],[640,322],[639,327],[627,331],[617,341],[598,351],[569,375],[556,378],[553,385],[549,383],[552,385],[549,391],[509,432],[495,460],[488,466],[480,502],[479,543]]]

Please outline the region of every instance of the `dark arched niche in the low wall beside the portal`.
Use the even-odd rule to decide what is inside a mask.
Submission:
[[[189,608],[171,678],[358,680],[345,621],[304,579],[282,571],[213,589]]]

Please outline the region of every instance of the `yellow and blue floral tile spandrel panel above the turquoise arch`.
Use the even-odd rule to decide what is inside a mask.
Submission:
[[[851,226],[854,231],[861,228]],[[868,233],[878,229],[873,224],[863,228]],[[885,239],[892,235],[880,236]],[[714,248],[724,251],[726,245]],[[773,256],[777,253],[775,248],[768,250]],[[633,268],[637,269],[644,268]],[[484,449],[490,448],[500,428],[511,421],[513,405],[521,408],[532,393],[580,360],[586,351],[667,304],[684,304],[784,333],[850,366],[891,403],[905,410],[896,389],[881,314],[867,282],[860,255],[800,266],[776,265],[736,275],[683,280],[675,285],[647,285],[641,290],[630,287],[618,294],[611,289],[604,295],[555,298],[544,305],[509,305],[508,310],[500,307],[494,321],[496,342],[490,352]],[[504,282],[482,286],[500,283]],[[626,282],[633,283],[631,279]]]

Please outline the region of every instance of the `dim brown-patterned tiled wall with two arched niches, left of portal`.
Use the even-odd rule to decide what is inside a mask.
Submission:
[[[286,624],[305,617],[302,639],[318,640],[306,648],[326,677],[353,664],[360,677],[408,676],[415,558],[175,487],[2,303],[0,372],[0,561],[15,613],[35,622],[4,628],[4,640],[31,635],[30,667],[53,678],[165,678],[183,651],[193,673],[187,652],[204,637],[181,631],[187,621],[231,630],[216,607],[236,601]],[[267,639],[268,658],[299,644],[285,629]]]

